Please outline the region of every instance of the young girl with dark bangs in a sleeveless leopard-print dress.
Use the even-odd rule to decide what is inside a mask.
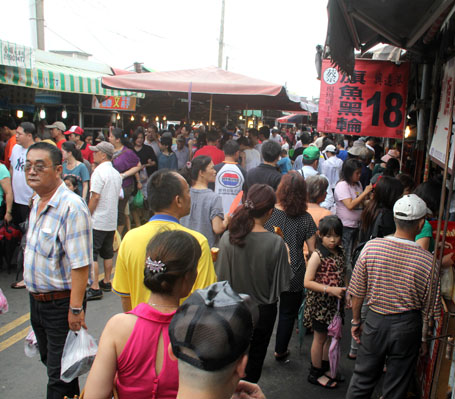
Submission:
[[[328,389],[336,388],[337,381],[326,375],[330,368],[327,328],[337,311],[338,299],[342,300],[346,292],[344,253],[340,246],[342,234],[343,224],[337,216],[321,219],[317,248],[308,261],[304,280],[308,289],[304,325],[314,331],[308,381]]]

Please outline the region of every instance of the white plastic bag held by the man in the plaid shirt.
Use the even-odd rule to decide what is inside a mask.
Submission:
[[[63,348],[60,379],[71,382],[85,374],[92,367],[98,345],[85,328],[79,331],[68,331]]]

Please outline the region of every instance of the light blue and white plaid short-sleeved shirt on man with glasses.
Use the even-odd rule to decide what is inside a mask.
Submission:
[[[39,201],[30,212],[24,254],[24,280],[31,292],[71,289],[71,270],[93,263],[90,212],[65,183],[40,215]],[[90,270],[89,270],[90,275]]]

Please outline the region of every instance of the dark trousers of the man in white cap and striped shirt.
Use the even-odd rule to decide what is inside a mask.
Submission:
[[[370,309],[346,398],[370,398],[387,359],[382,396],[402,399],[413,378],[422,338],[420,311],[380,315]]]

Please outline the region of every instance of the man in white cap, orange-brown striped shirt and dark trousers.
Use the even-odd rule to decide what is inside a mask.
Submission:
[[[433,255],[416,244],[415,236],[431,213],[415,194],[405,195],[393,207],[393,236],[369,241],[355,265],[348,294],[352,296],[351,334],[361,343],[348,399],[369,398],[382,376],[382,395],[404,398],[414,376],[419,347],[426,351],[422,317],[436,305],[427,303]],[[438,286],[439,287],[439,286]],[[439,290],[438,290],[439,291]],[[368,315],[362,329],[360,309],[366,300]]]

